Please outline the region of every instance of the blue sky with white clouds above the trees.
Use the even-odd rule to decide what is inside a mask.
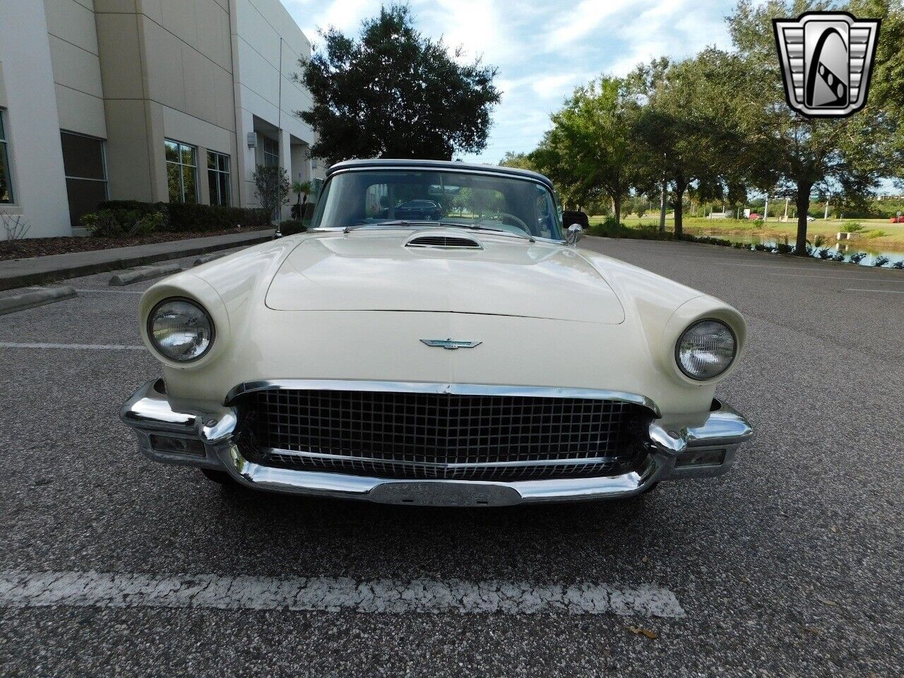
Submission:
[[[317,29],[357,35],[381,0],[282,0],[315,49]],[[421,33],[461,45],[465,58],[499,69],[502,101],[483,153],[463,159],[498,163],[506,151],[531,151],[550,114],[578,85],[624,75],[654,57],[680,59],[703,47],[730,47],[725,16],[733,0],[410,0]]]

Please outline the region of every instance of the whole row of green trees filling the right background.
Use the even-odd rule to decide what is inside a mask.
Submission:
[[[787,106],[772,19],[833,8],[879,17],[871,92],[851,118],[805,118]],[[904,7],[900,0],[739,0],[727,18],[733,49],[683,61],[656,59],[626,78],[574,90],[526,157],[556,182],[564,202],[658,194],[682,235],[686,195],[746,202],[750,191],[794,197],[796,253],[806,252],[811,196],[864,201],[880,178],[904,176]]]

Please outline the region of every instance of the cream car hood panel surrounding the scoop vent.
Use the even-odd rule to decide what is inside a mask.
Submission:
[[[406,246],[419,235],[474,250]],[[598,270],[557,243],[461,230],[352,231],[304,238],[270,283],[280,311],[425,311],[618,324],[625,312]]]

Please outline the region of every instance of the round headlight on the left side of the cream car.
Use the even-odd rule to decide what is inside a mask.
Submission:
[[[191,363],[210,350],[213,321],[193,301],[164,299],[147,316],[147,336],[165,358]]]

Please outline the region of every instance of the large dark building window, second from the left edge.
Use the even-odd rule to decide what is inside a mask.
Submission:
[[[76,228],[82,214],[94,212],[108,197],[104,142],[71,132],[60,132],[60,138],[69,217],[72,227]]]

